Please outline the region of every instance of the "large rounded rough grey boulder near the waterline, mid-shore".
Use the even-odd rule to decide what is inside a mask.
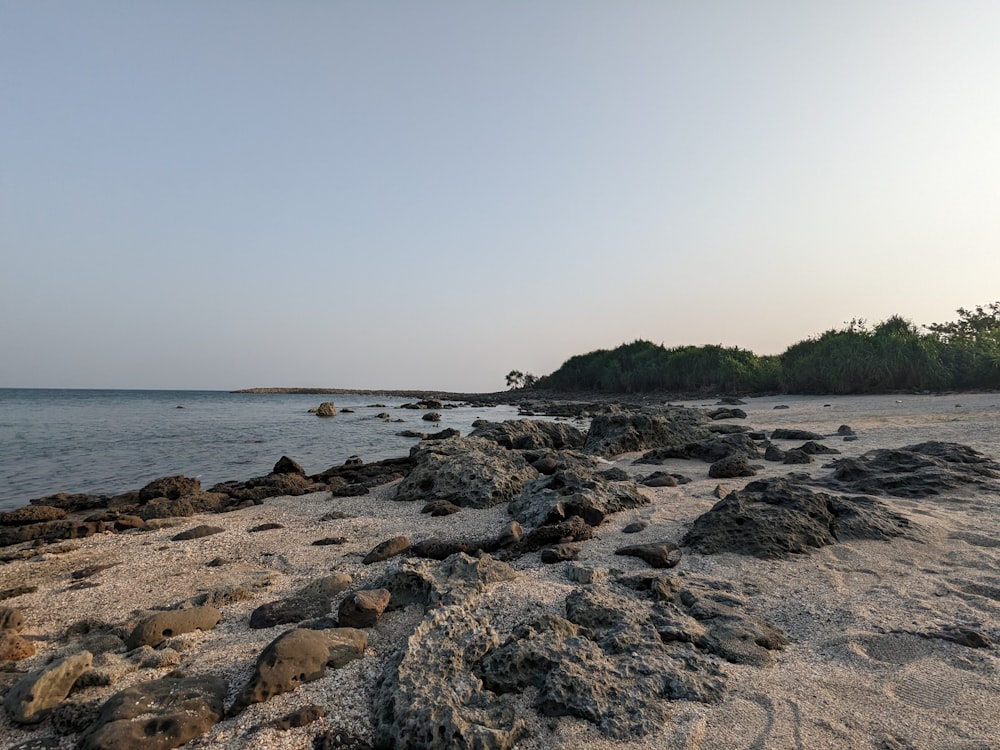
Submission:
[[[413,470],[396,488],[396,500],[447,500],[488,508],[510,502],[538,476],[524,458],[485,438],[421,443],[410,451]]]

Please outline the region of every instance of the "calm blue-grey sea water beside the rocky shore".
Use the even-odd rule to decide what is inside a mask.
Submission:
[[[308,413],[330,400],[355,412],[327,419]],[[441,421],[434,424],[421,419],[424,412],[400,409],[407,400],[0,389],[0,510],[56,492],[124,492],[174,474],[197,477],[207,488],[266,474],[282,455],[312,474],[352,455],[365,461],[404,456],[417,441],[397,436],[401,430],[454,427],[465,435],[476,419],[517,416],[511,406],[459,406],[441,410]],[[384,422],[376,418],[379,412],[405,422]]]

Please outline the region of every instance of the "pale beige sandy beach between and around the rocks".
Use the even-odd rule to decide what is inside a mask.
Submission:
[[[649,504],[609,516],[594,529],[594,538],[579,543],[575,563],[543,564],[537,552],[511,559],[516,576],[485,586],[471,611],[488,620],[500,643],[521,623],[542,615],[565,617],[566,598],[575,590],[596,585],[615,589],[618,578],[651,571],[643,560],[615,555],[617,549],[654,541],[680,544],[693,521],[709,511],[720,494],[750,481],[791,472],[819,478],[829,473],[823,468],[829,459],[928,440],[959,443],[990,459],[1000,458],[1000,396],[995,394],[747,401],[741,407],[746,419],[734,422],[767,433],[778,428],[815,431],[828,436],[825,444],[840,455],[816,456],[806,465],[754,459],[752,464],[760,467],[756,476],[729,479],[710,478],[709,464],[703,461],[668,459],[649,466],[634,463],[643,451],[614,456],[606,466],[632,477],[660,470],[691,481],[674,487],[640,487]],[[714,400],[686,405],[715,408]],[[857,439],[837,436],[842,425],[850,426]],[[93,707],[130,685],[180,670],[225,678],[228,705],[265,646],[294,627],[250,628],[251,613],[262,604],[331,573],[350,575],[351,591],[377,585],[402,564],[401,559],[368,565],[362,560],[388,538],[485,539],[501,533],[511,520],[506,505],[469,507],[433,517],[420,512],[421,503],[394,501],[397,484],[357,497],[317,492],[272,498],[232,512],[170,519],[160,528],[6,548],[7,553],[28,551],[21,559],[0,565],[0,590],[35,589],[7,598],[0,607],[23,613],[21,635],[37,653],[3,663],[3,692],[26,673],[89,644],[94,652],[91,670],[103,679],[84,680],[87,684],[70,694],[71,702]],[[664,719],[653,731],[613,737],[583,718],[541,715],[533,707],[535,690],[527,688],[510,697],[524,722],[513,746],[522,750],[1000,746],[996,646],[1000,643],[1000,503],[995,483],[969,484],[931,497],[876,499],[912,524],[913,538],[838,541],[786,559],[732,552],[708,555],[682,547],[679,564],[660,571],[664,576],[726,582],[749,616],[769,623],[787,638],[787,645],[770,652],[773,659],[767,665],[716,659],[726,675],[716,702],[663,700]],[[645,522],[642,531],[623,531],[637,521]],[[173,540],[178,532],[200,524],[223,531]],[[265,524],[275,527],[251,531]],[[343,542],[313,544],[329,537],[343,537]],[[91,566],[103,567],[74,578],[74,573]],[[606,569],[606,582],[571,580],[570,566]],[[241,593],[231,600],[219,599],[219,624],[167,639],[145,657],[150,666],[126,658],[124,648],[112,644],[100,651],[94,645],[98,635],[105,642],[109,635],[124,639],[150,613],[224,590]],[[333,598],[333,613],[348,593]],[[292,692],[250,705],[185,747],[307,750],[318,736],[337,733],[346,738],[342,746],[368,746],[375,738],[372,706],[380,676],[427,614],[420,604],[387,611],[366,629],[367,647],[361,658],[329,669]],[[978,644],[983,647],[942,637],[960,631],[983,636],[985,642]],[[322,706],[324,716],[302,727],[274,726],[277,719],[307,705]],[[26,726],[0,713],[0,747],[22,747],[29,740],[41,743],[30,747],[68,749],[78,746],[79,735],[58,734],[50,719]]]

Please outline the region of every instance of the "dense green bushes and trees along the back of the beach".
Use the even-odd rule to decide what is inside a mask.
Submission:
[[[541,378],[512,371],[508,385],[641,393],[879,393],[1000,388],[1000,302],[959,309],[958,319],[918,327],[894,315],[852,320],[776,356],[722,346],[667,349],[633,341],[578,354]],[[512,377],[519,376],[519,377]]]

